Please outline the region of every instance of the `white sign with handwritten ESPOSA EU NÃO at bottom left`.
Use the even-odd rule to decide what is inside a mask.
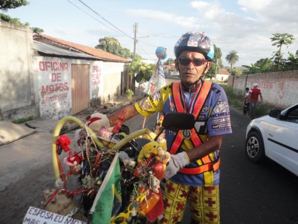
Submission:
[[[35,207],[29,207],[23,224],[86,224],[85,222],[74,220],[71,217],[66,217],[51,213]]]

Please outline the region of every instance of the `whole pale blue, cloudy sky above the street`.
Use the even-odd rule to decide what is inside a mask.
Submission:
[[[231,50],[238,52],[235,66],[272,57],[277,50],[270,40],[273,33],[290,33],[296,38],[282,48],[285,58],[289,51],[298,50],[297,0],[81,1],[122,32],[79,0],[29,0],[29,5],[9,9],[7,14],[56,38],[94,47],[99,38],[112,36],[131,51],[138,22],[137,37],[143,38],[138,39],[136,52],[150,60],[157,59],[158,46],[167,49],[168,58],[174,58],[176,41],[188,31],[204,31],[221,48],[224,66],[228,66],[225,56]]]

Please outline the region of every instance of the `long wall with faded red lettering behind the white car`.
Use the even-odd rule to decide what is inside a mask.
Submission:
[[[298,71],[275,72],[245,76],[230,76],[228,85],[243,91],[245,87],[259,85],[265,103],[289,107],[298,103]]]

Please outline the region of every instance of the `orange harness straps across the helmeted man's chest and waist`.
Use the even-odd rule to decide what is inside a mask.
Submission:
[[[195,119],[198,117],[198,115],[205,103],[205,100],[210,92],[211,87],[212,87],[211,82],[207,82],[207,81],[204,82],[202,89],[196,99],[196,102],[194,104],[194,109],[192,112],[193,115],[195,116]],[[172,84],[172,96],[174,99],[176,111],[177,112],[185,112],[184,107],[181,102],[180,83]],[[183,140],[184,140],[184,137],[182,135],[182,130],[179,130],[172,145],[171,145],[171,149],[170,149],[171,154],[175,154],[177,152],[177,150],[180,147],[180,145],[182,144]],[[202,141],[194,128],[191,129],[190,140],[192,141],[192,143],[195,147],[198,147],[202,144]],[[201,165],[201,166],[194,167],[194,168],[182,168],[182,169],[180,169],[179,172],[184,173],[184,174],[200,174],[200,173],[204,173],[208,170],[216,171],[220,165],[220,160],[213,163],[208,155],[204,156],[202,158],[202,161],[203,161],[203,165]]]

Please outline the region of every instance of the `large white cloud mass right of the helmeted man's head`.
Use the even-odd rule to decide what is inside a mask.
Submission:
[[[191,7],[198,10],[201,21],[209,24],[207,35],[212,37],[225,55],[236,50],[239,63],[255,63],[260,58],[271,57],[276,50],[270,37],[276,32],[287,32],[298,39],[298,4],[296,0],[238,0],[239,10],[227,11],[219,1],[195,0]],[[248,16],[249,15],[249,16]],[[283,48],[285,57],[290,50],[298,49],[297,41]]]

